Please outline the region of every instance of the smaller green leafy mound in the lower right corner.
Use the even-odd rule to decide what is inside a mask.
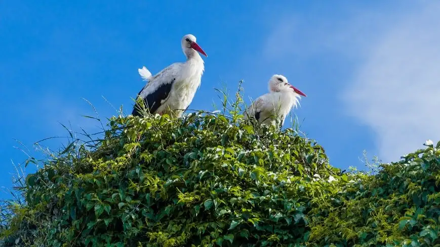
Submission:
[[[317,246],[440,246],[440,142],[356,173],[311,217]]]

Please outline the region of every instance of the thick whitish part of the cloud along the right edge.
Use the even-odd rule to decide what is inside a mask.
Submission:
[[[384,161],[440,139],[439,12],[430,2],[389,26],[344,95],[350,113],[376,132]]]

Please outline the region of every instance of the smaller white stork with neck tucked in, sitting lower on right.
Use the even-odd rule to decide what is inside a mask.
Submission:
[[[282,75],[273,75],[269,80],[269,92],[255,100],[244,113],[245,119],[255,118],[260,124],[275,125],[278,119],[281,126],[293,107],[299,104],[300,95],[307,97],[292,86]]]

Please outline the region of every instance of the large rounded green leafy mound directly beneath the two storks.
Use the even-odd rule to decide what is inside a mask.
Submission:
[[[311,207],[337,192],[311,177],[339,170],[292,129],[262,127],[265,134],[256,135],[251,125],[201,113],[114,117],[109,127],[96,150],[69,145],[26,177],[27,205],[18,215],[37,227],[33,241],[295,246],[310,234]]]

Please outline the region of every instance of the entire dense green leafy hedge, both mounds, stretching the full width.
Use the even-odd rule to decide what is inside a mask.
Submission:
[[[26,177],[5,246],[440,246],[440,149],[341,171],[236,116],[113,117]],[[20,188],[19,188],[20,189]]]

